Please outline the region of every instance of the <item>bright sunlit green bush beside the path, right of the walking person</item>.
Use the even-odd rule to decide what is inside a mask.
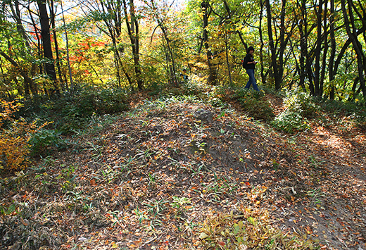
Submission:
[[[312,118],[319,108],[311,96],[295,90],[287,93],[284,103],[286,109],[274,118],[272,125],[277,130],[289,133],[309,129],[307,118]]]

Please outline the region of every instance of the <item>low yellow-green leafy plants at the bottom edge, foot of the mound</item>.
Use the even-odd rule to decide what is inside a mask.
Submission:
[[[201,224],[200,243],[205,249],[314,249],[317,239],[307,239],[297,232],[282,232],[270,223],[270,213],[260,208],[267,187],[246,193],[253,205],[239,204],[239,214],[215,213]]]

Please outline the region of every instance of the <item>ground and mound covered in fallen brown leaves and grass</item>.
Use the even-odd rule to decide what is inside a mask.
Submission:
[[[290,137],[175,99],[71,140],[1,180],[2,249],[366,249],[354,128]]]

